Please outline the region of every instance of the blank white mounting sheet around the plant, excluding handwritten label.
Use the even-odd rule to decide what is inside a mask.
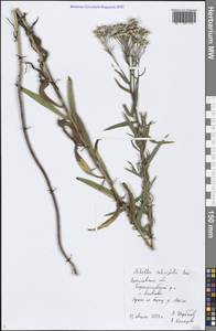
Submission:
[[[194,291],[199,298],[203,327],[204,2],[119,3],[125,9],[71,9],[69,1],[2,2],[4,329],[127,328],[126,265],[196,269],[201,281]],[[54,116],[26,98],[32,141],[57,186],[64,243],[78,265],[79,277],[71,275],[58,254],[51,200],[26,151],[18,115],[15,44],[6,19],[17,7],[29,12],[32,21],[40,17],[36,32],[51,51],[53,75],[62,79],[61,88],[65,88],[67,75],[73,77],[79,114],[95,138],[104,135],[102,128],[121,120],[121,104],[127,98],[115,85],[110,60],[93,29],[136,17],[151,30],[151,43],[143,56],[147,73],[141,83],[140,109],[156,121],[154,135],[170,134],[175,140],[175,145],[161,149],[151,168],[152,175],[158,175],[156,250],[144,246],[123,215],[106,231],[87,232],[114,205],[76,182],[75,177],[83,173],[74,161],[71,142],[57,128]],[[173,8],[197,9],[197,23],[173,24]],[[24,55],[29,55],[26,47]],[[26,74],[25,86],[36,88],[34,74]],[[117,135],[110,132],[111,137]],[[132,175],[122,170],[126,160],[133,157],[130,143],[107,139],[100,150],[111,174],[136,185]]]

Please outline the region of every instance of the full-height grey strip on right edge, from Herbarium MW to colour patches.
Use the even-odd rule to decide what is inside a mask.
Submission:
[[[216,1],[206,0],[205,235],[206,330],[216,330]]]

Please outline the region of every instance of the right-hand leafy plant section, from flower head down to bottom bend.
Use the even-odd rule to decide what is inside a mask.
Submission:
[[[164,143],[173,141],[155,140],[150,137],[151,126],[153,121],[148,121],[147,113],[139,111],[139,87],[140,78],[144,71],[140,73],[141,57],[149,44],[148,35],[150,31],[140,26],[139,21],[134,18],[129,19],[126,23],[117,23],[110,25],[100,25],[94,31],[95,36],[104,46],[105,52],[111,57],[112,66],[117,78],[115,82],[126,94],[130,95],[131,104],[123,104],[123,121],[108,127],[106,130],[127,127],[130,132],[132,148],[138,154],[136,163],[128,161],[127,171],[141,180],[141,190],[138,196],[134,196],[129,185],[123,183],[127,191],[128,201],[125,205],[127,215],[133,228],[139,232],[145,244],[153,249],[153,195],[151,188],[155,181],[150,178],[149,168],[156,152]],[[120,64],[117,57],[116,47],[120,47]],[[126,67],[126,70],[125,70]],[[153,148],[150,150],[148,145]]]

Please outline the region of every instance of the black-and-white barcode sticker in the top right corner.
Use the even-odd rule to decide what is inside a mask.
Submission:
[[[196,23],[196,10],[195,9],[173,9],[172,22],[175,24],[193,24]]]

